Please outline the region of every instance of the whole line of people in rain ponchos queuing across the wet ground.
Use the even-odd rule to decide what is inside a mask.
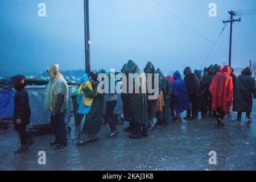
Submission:
[[[139,85],[139,93],[121,93],[124,120],[129,122],[129,127],[124,130],[130,133],[131,139],[148,137],[148,131],[154,130],[156,126],[168,126],[168,115],[171,115],[172,122],[182,122],[183,119],[197,119],[201,112],[201,118],[216,117],[217,124],[223,126],[224,117],[230,113],[233,106],[233,111],[237,112],[237,121],[241,121],[243,112],[246,113],[246,118],[251,119],[250,113],[253,97],[256,98],[256,88],[249,67],[245,68],[238,77],[228,65],[221,68],[217,64],[205,68],[203,76],[200,70],[192,72],[190,67],[186,67],[183,71],[184,79],[179,71],[173,76],[165,77],[163,72],[159,68],[155,69],[151,62],[146,64],[143,71],[147,81],[152,80],[152,87],[154,87],[154,77],[159,76],[159,96],[154,100],[149,99],[152,93],[142,92],[142,84],[135,83],[135,80],[133,82]],[[65,110],[68,103],[68,85],[60,73],[59,65],[49,67],[47,72],[51,81],[47,86],[44,104],[51,111],[51,124],[55,133],[55,141],[49,145],[54,146],[55,150],[61,150],[67,147]],[[121,72],[127,75],[127,78],[129,73],[142,73],[132,60],[123,65]],[[108,76],[116,84],[115,75],[109,73]],[[98,139],[102,117],[110,127],[107,137],[117,135],[113,115],[117,105],[117,93],[99,93],[97,88],[101,81],[102,78],[98,77],[96,71],[85,74],[80,80],[78,102],[79,111],[84,117],[80,123],[77,146]],[[26,131],[31,113],[28,93],[24,88],[26,78],[22,75],[14,76],[13,84],[16,90],[14,125],[21,143],[21,147],[15,152],[23,152],[33,143]],[[106,103],[106,112],[102,116],[104,103]],[[183,111],[187,111],[187,115],[181,118]]]

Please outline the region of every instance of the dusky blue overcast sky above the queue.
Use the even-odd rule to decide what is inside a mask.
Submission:
[[[212,42],[224,26],[220,19],[229,18],[222,0],[199,0],[205,7],[196,0],[157,1]],[[40,2],[46,17],[38,16]],[[218,18],[209,17],[210,2],[217,4]],[[225,2],[232,10],[256,9],[255,0]],[[119,71],[129,59],[141,69],[151,61],[165,74],[199,69],[212,47],[152,0],[90,0],[89,6],[92,69]],[[233,67],[256,60],[256,15],[241,18],[233,24]],[[1,0],[0,27],[0,71],[40,73],[56,63],[62,70],[85,68],[83,0]],[[226,51],[229,27],[217,42]],[[214,47],[204,66],[228,62],[226,51]]]

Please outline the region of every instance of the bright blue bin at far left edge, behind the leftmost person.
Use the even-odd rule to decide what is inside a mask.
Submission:
[[[0,91],[0,119],[12,118],[14,111],[14,90]]]

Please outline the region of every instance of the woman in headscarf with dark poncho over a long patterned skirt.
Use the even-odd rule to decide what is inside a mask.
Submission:
[[[88,77],[93,90],[86,87],[82,91],[85,97],[93,98],[93,102],[89,113],[85,115],[84,125],[80,127],[79,140],[76,142],[77,146],[98,140],[98,132],[101,130],[103,94],[98,92],[98,85],[100,84],[98,73],[91,71]]]

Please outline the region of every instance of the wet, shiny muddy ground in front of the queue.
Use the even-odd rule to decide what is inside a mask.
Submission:
[[[102,124],[99,140],[77,147],[77,129],[70,123],[68,148],[54,151],[49,142],[53,133],[41,130],[34,135],[34,145],[23,154],[14,154],[19,147],[13,129],[0,134],[1,170],[256,170],[256,102],[249,121],[236,113],[225,118],[226,126],[217,126],[216,119],[197,119],[169,123],[157,127],[149,137],[129,139],[118,124],[118,135],[106,138],[109,127]],[[185,114],[185,113],[184,113]],[[46,152],[46,165],[38,164],[38,152]],[[209,152],[216,151],[217,164],[209,164]]]

